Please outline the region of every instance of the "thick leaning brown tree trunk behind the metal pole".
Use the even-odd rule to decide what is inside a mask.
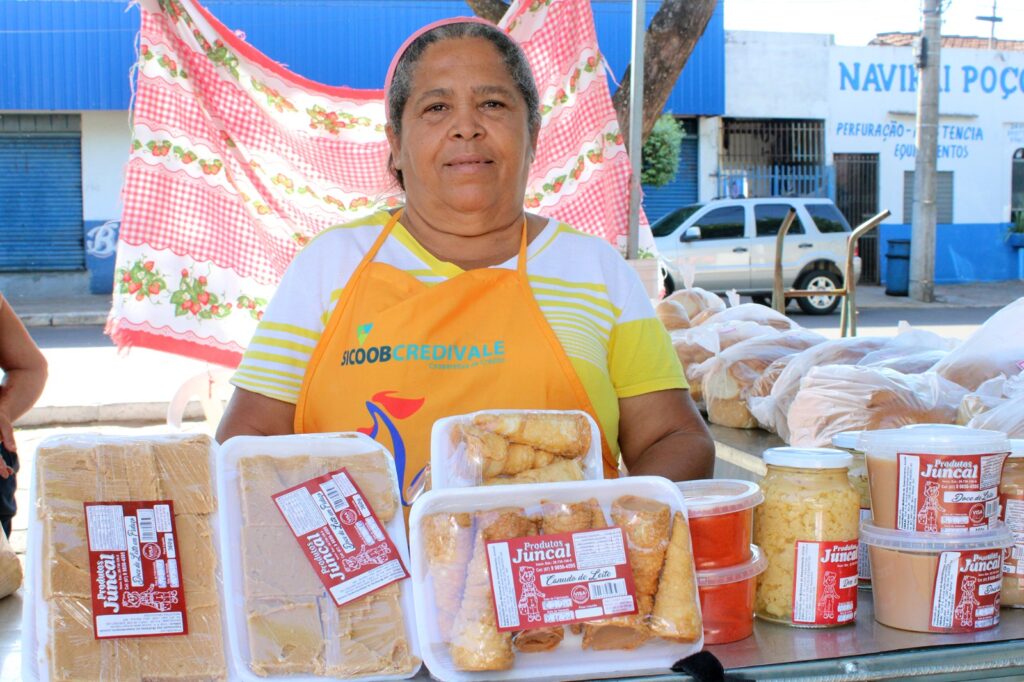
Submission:
[[[717,0],[665,0],[651,19],[643,43],[642,139],[647,139],[654,122],[662,116],[665,102],[669,100],[679,74],[703,35],[716,4]],[[611,97],[618,127],[627,140],[631,72],[632,66],[627,67],[618,90]]]

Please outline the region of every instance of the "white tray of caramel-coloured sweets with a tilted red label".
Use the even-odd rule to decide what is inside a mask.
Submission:
[[[218,481],[240,679],[417,673],[406,524],[387,451],[357,433],[237,437],[221,446]],[[455,524],[435,548],[441,560],[465,555],[461,530]]]

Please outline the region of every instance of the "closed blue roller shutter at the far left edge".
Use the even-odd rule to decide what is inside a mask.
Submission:
[[[78,134],[0,134],[0,271],[81,270]]]

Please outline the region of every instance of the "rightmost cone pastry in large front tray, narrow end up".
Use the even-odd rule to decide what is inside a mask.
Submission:
[[[676,512],[662,582],[650,615],[650,630],[674,642],[696,641],[701,628],[698,608],[690,528],[686,517]]]

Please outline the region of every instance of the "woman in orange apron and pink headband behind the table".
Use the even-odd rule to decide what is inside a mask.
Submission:
[[[319,233],[281,282],[217,437],[358,430],[395,456],[402,500],[434,421],[584,410],[605,476],[709,477],[714,444],[669,336],[604,241],[525,213],[541,127],[522,49],[475,18],[421,29],[386,83],[404,207]]]

